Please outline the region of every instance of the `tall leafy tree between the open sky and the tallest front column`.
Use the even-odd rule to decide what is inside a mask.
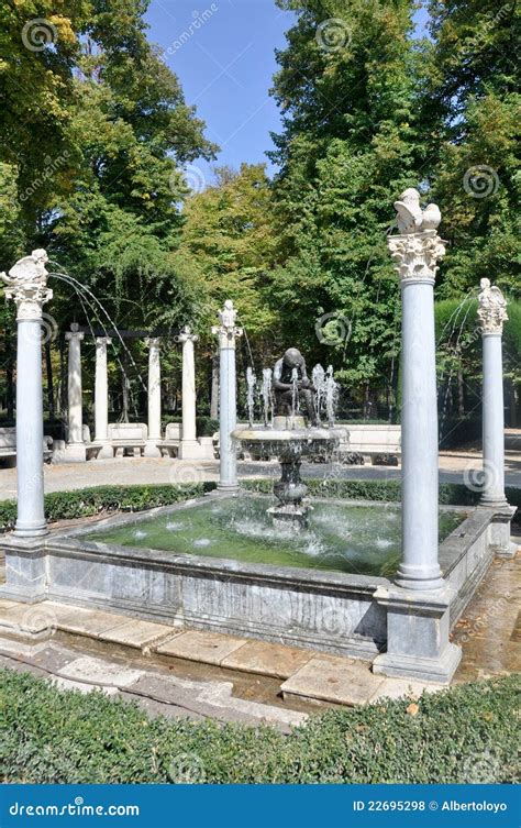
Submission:
[[[399,287],[385,236],[418,184],[409,0],[279,0],[298,14],[277,54],[274,137],[284,266],[275,301],[288,344],[333,361],[348,384],[389,386]]]

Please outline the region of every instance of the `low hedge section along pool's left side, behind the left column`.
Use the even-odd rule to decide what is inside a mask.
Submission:
[[[214,483],[193,483],[180,486],[96,486],[75,492],[53,492],[45,495],[45,515],[53,522],[87,518],[104,511],[143,511],[200,497],[214,488]],[[13,500],[0,501],[0,531],[12,529],[15,519],[16,504]]]

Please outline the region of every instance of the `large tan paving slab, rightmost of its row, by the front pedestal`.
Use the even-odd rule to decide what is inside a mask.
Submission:
[[[350,706],[370,702],[384,678],[373,675],[367,662],[343,661],[322,655],[312,658],[282,684],[282,697],[318,698]]]

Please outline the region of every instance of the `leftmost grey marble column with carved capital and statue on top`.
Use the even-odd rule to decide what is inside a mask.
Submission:
[[[42,308],[47,288],[47,254],[35,250],[2,273],[5,297],[16,305],[16,525],[14,534],[47,533],[43,479]],[[9,573],[8,573],[9,576]],[[8,577],[9,579],[9,577]]]

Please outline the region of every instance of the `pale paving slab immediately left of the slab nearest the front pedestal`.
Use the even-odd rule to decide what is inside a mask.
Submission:
[[[275,678],[289,678],[312,658],[311,651],[252,640],[223,659],[221,666],[246,673],[273,675]]]

